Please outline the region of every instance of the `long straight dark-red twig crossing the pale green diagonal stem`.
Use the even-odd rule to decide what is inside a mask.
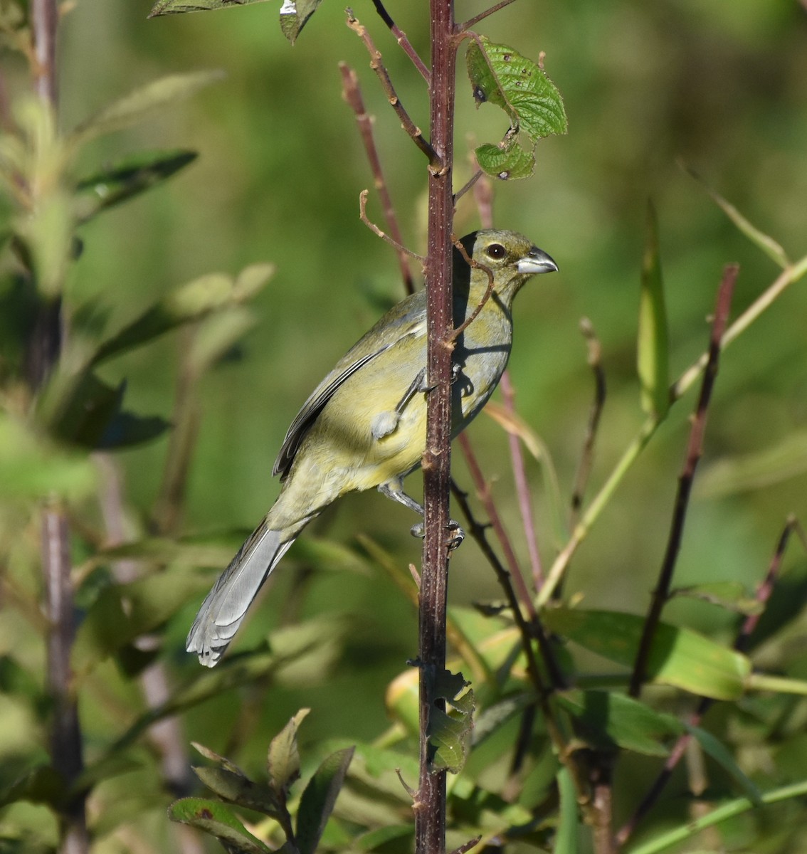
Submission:
[[[678,492],[675,495],[675,507],[673,509],[672,523],[670,524],[670,537],[667,541],[667,549],[664,553],[664,560],[658,574],[658,583],[653,591],[650,609],[647,612],[644,629],[642,630],[639,651],[636,654],[634,670],[630,678],[629,693],[631,697],[638,697],[640,694],[642,682],[645,680],[647,660],[650,657],[653,636],[661,619],[661,611],[670,595],[670,585],[675,570],[675,563],[678,559],[678,552],[681,547],[684,523],[687,518],[689,495],[692,491],[695,470],[703,453],[706,414],[709,409],[712,389],[715,387],[717,367],[720,362],[722,336],[728,325],[731,297],[734,293],[734,283],[737,280],[739,269],[739,266],[736,264],[728,264],[724,268],[722,282],[717,292],[715,314],[711,325],[709,357],[704,371],[692,429],[689,432],[684,467],[678,478]]]

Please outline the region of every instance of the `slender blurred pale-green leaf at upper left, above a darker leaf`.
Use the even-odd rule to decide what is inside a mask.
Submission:
[[[156,109],[173,107],[179,98],[190,97],[224,76],[222,71],[196,71],[169,74],[154,80],[83,121],[73,131],[70,141],[74,146],[78,146],[88,139],[135,125]]]

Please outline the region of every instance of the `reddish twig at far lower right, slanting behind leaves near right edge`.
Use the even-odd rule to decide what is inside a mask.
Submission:
[[[787,524],[782,529],[781,535],[779,535],[779,538],[776,541],[776,547],[773,557],[770,559],[768,571],[765,573],[765,577],[762,582],[757,586],[757,593],[754,598],[757,600],[759,605],[763,605],[763,608],[761,608],[756,614],[749,614],[743,621],[740,631],[734,640],[734,649],[737,650],[737,652],[745,652],[748,648],[751,633],[756,629],[759,617],[762,616],[764,605],[768,604],[770,596],[775,588],[776,581],[779,578],[782,560],[784,559],[785,551],[787,550],[787,543],[790,541],[792,533],[794,531],[798,533],[799,530],[800,526],[796,518],[788,518]],[[706,712],[709,711],[713,703],[713,699],[709,697],[701,697],[697,708],[688,718],[689,726],[699,726]],[[664,763],[664,768],[661,769],[658,777],[653,781],[652,786],[647,791],[645,797],[641,799],[640,804],[634,810],[633,815],[630,816],[628,821],[623,824],[622,828],[619,828],[616,836],[618,845],[624,845],[628,841],[639,822],[647,815],[652,808],[652,805],[656,803],[659,796],[664,791],[664,787],[666,787],[667,783],[670,781],[670,777],[675,770],[675,766],[681,761],[681,757],[683,757],[687,752],[687,746],[689,745],[690,740],[692,740],[692,737],[692,734],[687,732],[682,734],[675,742],[675,745],[670,751],[670,756],[667,757],[667,761]]]

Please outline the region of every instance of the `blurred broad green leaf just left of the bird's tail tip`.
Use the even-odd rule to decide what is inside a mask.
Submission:
[[[121,646],[161,626],[198,587],[187,573],[164,572],[105,588],[79,626],[73,670],[82,676]]]

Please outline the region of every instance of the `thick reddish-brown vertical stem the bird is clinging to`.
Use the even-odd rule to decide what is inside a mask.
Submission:
[[[448,493],[451,484],[452,162],[454,78],[453,0],[430,0],[431,147],[440,164],[429,169],[429,255],[426,263],[428,383],[426,451],[423,459],[425,539],[420,583],[420,778],[415,809],[417,854],[442,854],[446,847],[446,773],[432,773],[428,726],[432,685],[446,661],[448,581]]]

